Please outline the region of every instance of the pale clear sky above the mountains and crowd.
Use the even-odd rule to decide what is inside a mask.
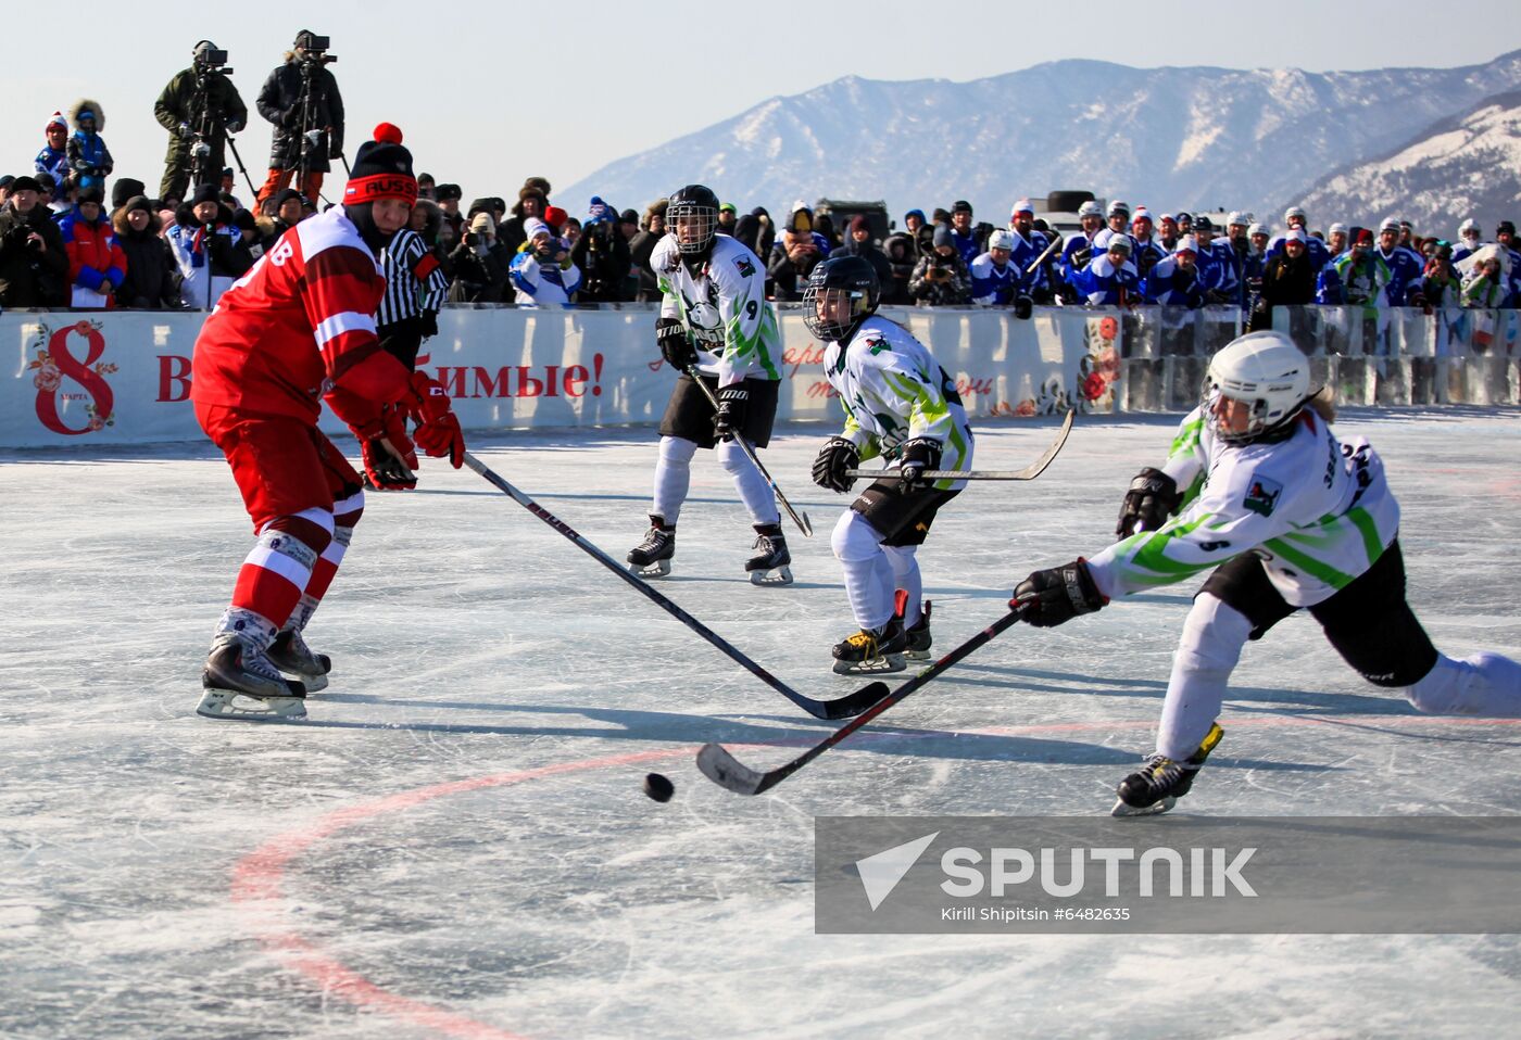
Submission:
[[[315,14],[204,2],[125,15],[119,2],[85,2],[38,14],[30,33],[12,12],[0,170],[29,169],[49,114],[84,94],[106,111],[117,173],[148,181],[152,193],[167,141],[154,100],[189,64],[193,44],[210,38],[231,52],[233,79],[252,109],[303,27],[332,36],[339,56],[333,71],[348,106],[350,158],[376,122],[394,122],[418,170],[462,184],[467,198],[511,195],[529,173],[567,185],[767,97],[847,75],[967,81],[1062,58],[1316,71],[1453,67],[1521,47],[1521,11],[1507,3],[1481,14],[1457,6],[1433,14],[1428,2],[1407,0],[341,0],[304,9]],[[256,182],[269,134],[251,111],[236,138]]]

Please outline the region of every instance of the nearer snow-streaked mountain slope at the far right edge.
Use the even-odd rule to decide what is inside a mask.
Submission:
[[[1494,236],[1495,222],[1521,219],[1521,91],[1486,97],[1387,155],[1337,170],[1302,199],[1325,220],[1377,227],[1396,214],[1456,242],[1472,216]]]

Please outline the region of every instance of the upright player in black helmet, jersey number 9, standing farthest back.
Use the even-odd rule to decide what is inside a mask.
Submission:
[[[718,196],[687,184],[671,196],[666,234],[649,255],[665,301],[656,342],[678,376],[660,420],[649,532],[630,550],[630,570],[659,578],[671,573],[675,525],[691,484],[697,449],[716,449],[718,462],[735,479],[756,529],[756,555],[745,563],[756,585],[789,585],[792,555],[782,535],[776,496],[756,465],[735,444],[754,449],[771,439],[776,420],[782,341],[776,312],[765,300],[765,265],[727,234],[718,234]],[[692,382],[697,369],[718,398],[718,414]]]

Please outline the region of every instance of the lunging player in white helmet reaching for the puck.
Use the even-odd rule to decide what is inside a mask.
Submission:
[[[1115,815],[1165,812],[1188,794],[1220,744],[1215,716],[1241,648],[1300,608],[1363,678],[1418,712],[1521,716],[1521,664],[1453,660],[1431,645],[1405,602],[1384,464],[1361,438],[1338,442],[1329,418],[1288,336],[1241,336],[1211,359],[1203,401],[1164,467],[1130,484],[1121,541],[1015,590],[1010,608],[1051,626],[1214,569],[1183,622],[1156,754],[1119,783]]]

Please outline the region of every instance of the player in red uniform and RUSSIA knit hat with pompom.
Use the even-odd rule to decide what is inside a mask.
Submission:
[[[380,348],[373,318],[385,280],[377,255],[417,199],[412,157],[367,141],[344,204],[286,231],[218,301],[195,344],[192,401],[227,455],[257,544],[211,642],[196,709],[210,718],[303,718],[330,660],[303,639],[364,511],[359,474],[316,429],[322,400],[360,441],[365,470],[406,436],[458,468],[464,438],[444,388]],[[380,484],[376,479],[376,484]],[[298,678],[284,678],[281,672]]]

